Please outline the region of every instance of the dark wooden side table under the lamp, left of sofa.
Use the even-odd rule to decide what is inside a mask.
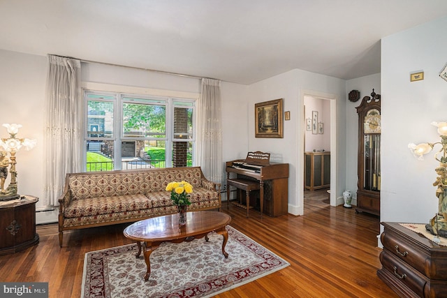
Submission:
[[[0,202],[0,255],[17,253],[39,243],[36,233],[36,203],[38,198]]]

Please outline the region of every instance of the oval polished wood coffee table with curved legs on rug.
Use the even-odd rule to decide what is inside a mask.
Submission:
[[[143,255],[147,265],[145,281],[151,274],[149,256],[163,242],[181,243],[205,237],[208,241],[208,233],[217,232],[223,236],[222,253],[228,258],[225,251],[228,241],[226,225],[231,217],[219,211],[192,211],[186,213],[186,225],[179,225],[177,214],[148,218],[129,225],[124,229],[124,236],[132,239],[138,245],[138,258],[141,254],[141,242],[143,243]]]

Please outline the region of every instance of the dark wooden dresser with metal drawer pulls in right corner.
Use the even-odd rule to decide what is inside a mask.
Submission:
[[[447,297],[447,246],[399,223],[381,224],[379,278],[400,297]]]

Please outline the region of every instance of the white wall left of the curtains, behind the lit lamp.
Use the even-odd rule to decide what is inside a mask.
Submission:
[[[43,195],[44,96],[47,59],[29,54],[0,50],[0,124],[22,124],[17,137],[36,139],[31,151],[17,152],[17,192],[20,195]],[[9,137],[0,126],[0,137]],[[5,187],[9,185],[10,174]],[[41,202],[38,202],[39,206]]]

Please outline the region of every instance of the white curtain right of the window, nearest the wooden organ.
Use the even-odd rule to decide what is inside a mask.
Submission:
[[[221,82],[202,79],[198,104],[198,159],[205,177],[222,183]]]

